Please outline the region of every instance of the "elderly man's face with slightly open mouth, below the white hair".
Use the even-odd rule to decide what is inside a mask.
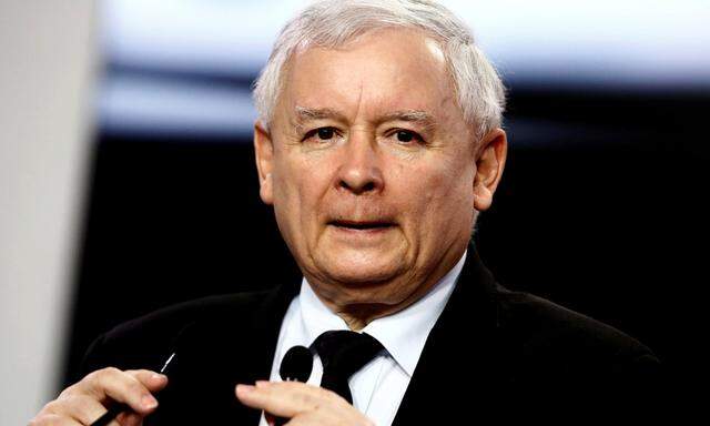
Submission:
[[[285,72],[255,136],[262,199],[322,298],[403,303],[458,261],[473,223],[477,144],[440,49],[382,30]]]

